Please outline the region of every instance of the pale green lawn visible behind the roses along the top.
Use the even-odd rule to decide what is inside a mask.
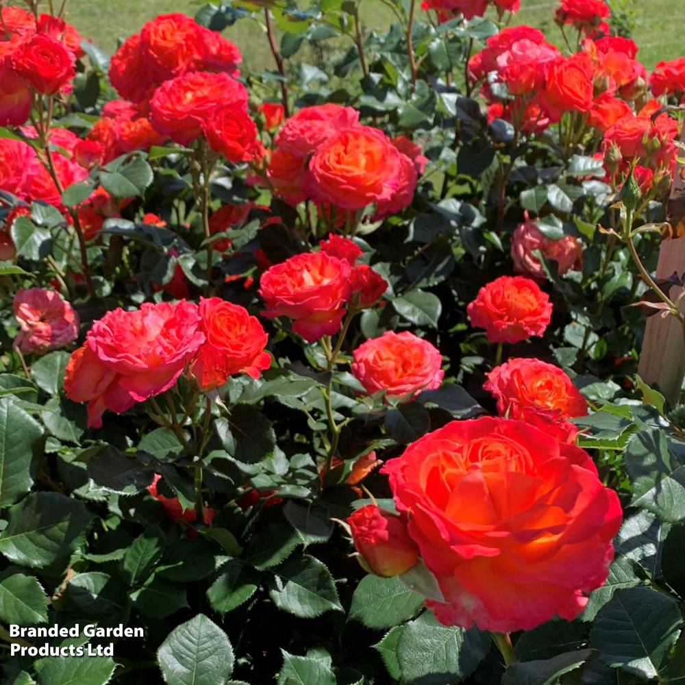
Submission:
[[[673,60],[684,54],[680,29],[685,23],[684,0],[623,0],[634,18],[633,37],[642,60],[648,69],[661,60]],[[305,4],[305,3],[303,3]],[[516,23],[526,23],[543,29],[549,40],[563,45],[554,23],[556,0],[522,0]],[[194,14],[197,5],[188,0],[68,0],[68,18],[79,32],[91,38],[99,47],[114,51],[117,40],[140,30],[149,19],[166,12]],[[382,28],[392,14],[378,0],[362,3],[364,24]],[[273,69],[262,29],[256,22],[239,21],[226,30],[225,36],[240,47],[247,66],[251,69]]]

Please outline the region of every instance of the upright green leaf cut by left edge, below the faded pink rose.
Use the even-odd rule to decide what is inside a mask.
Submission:
[[[36,419],[11,397],[0,398],[0,508],[10,506],[31,490],[33,447],[41,437]]]

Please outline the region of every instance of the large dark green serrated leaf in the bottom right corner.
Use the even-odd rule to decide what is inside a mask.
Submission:
[[[682,616],[673,597],[651,588],[616,590],[590,631],[599,660],[653,678],[677,639]]]

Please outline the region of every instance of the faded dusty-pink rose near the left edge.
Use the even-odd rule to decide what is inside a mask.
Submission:
[[[14,316],[20,328],[14,347],[26,354],[66,347],[79,336],[78,314],[56,290],[17,290]]]

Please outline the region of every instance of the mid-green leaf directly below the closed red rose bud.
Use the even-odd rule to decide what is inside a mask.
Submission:
[[[367,575],[354,590],[348,618],[367,628],[390,628],[411,619],[423,601],[397,577]]]

